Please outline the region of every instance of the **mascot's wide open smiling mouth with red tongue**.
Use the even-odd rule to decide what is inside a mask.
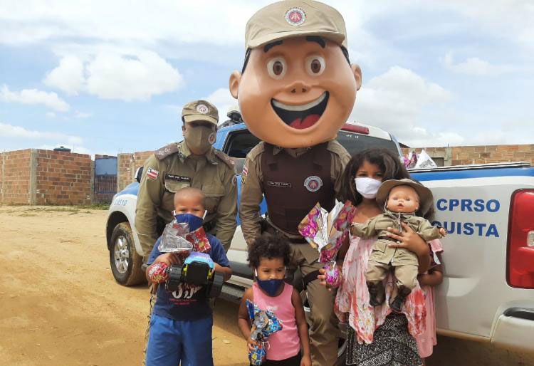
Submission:
[[[328,96],[328,92],[325,92],[313,102],[305,105],[287,105],[271,99],[271,105],[286,125],[304,130],[315,125],[315,122],[323,115],[328,103]]]

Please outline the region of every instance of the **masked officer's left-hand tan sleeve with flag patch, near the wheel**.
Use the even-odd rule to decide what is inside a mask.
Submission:
[[[147,177],[149,168],[157,172],[156,179]],[[164,192],[164,164],[157,160],[155,155],[147,159],[143,166],[143,174],[137,193],[137,206],[135,208],[135,230],[145,257],[150,254],[157,240],[157,207],[162,203]]]

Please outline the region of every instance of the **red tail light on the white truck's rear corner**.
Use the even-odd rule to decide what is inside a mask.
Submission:
[[[534,288],[534,189],[512,194],[506,259],[508,285]]]

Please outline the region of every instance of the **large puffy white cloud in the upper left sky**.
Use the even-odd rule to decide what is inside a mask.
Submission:
[[[44,83],[69,94],[90,93],[103,99],[127,102],[150,100],[152,95],[177,90],[182,75],[157,53],[145,50],[88,48],[84,60],[61,58]],[[95,51],[96,53],[91,53]]]

